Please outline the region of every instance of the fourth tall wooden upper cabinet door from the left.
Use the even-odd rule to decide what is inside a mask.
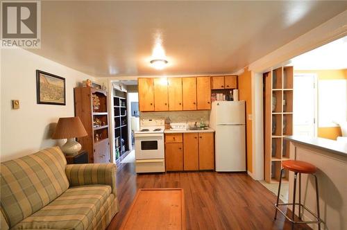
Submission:
[[[196,78],[182,78],[183,110],[196,110]]]

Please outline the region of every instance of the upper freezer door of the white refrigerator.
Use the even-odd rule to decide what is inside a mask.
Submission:
[[[216,112],[216,125],[244,125],[244,101],[217,101],[214,102]]]

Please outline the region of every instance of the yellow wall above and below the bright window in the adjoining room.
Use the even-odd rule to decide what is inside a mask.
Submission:
[[[347,69],[339,70],[310,70],[310,71],[294,71],[294,73],[316,73],[318,80],[347,80]],[[317,136],[326,139],[336,140],[337,136],[341,136],[340,127],[318,127]]]

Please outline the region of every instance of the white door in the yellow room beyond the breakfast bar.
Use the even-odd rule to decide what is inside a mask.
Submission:
[[[294,75],[293,134],[317,136],[317,76],[314,73]]]

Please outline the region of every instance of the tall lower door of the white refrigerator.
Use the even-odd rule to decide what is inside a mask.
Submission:
[[[246,171],[245,125],[217,125],[216,171]]]

